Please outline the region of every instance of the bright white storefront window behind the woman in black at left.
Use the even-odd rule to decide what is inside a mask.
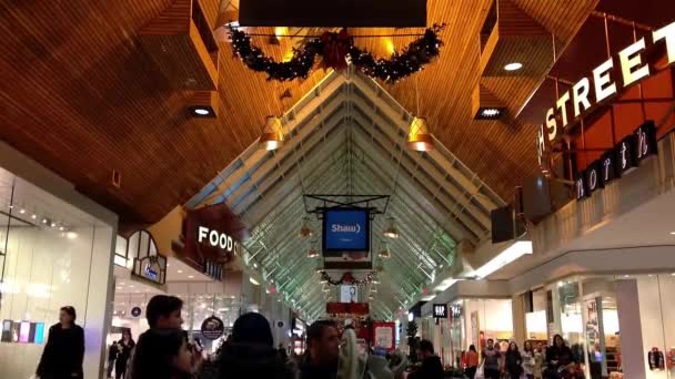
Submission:
[[[84,328],[84,376],[99,377],[112,231],[0,168],[0,378],[34,372],[63,306]]]

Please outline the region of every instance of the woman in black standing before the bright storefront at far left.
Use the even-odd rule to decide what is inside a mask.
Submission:
[[[84,330],[75,325],[77,314],[73,307],[63,307],[59,311],[59,324],[49,328],[49,337],[42,358],[36,370],[41,379],[82,378],[84,359]]]

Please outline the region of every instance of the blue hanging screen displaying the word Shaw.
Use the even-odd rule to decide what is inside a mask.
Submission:
[[[369,211],[360,208],[335,208],[324,211],[323,250],[370,250]]]

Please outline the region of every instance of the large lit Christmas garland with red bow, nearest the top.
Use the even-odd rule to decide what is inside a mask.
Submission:
[[[354,45],[354,40],[346,29],[340,32],[325,32],[321,38],[306,42],[300,49],[293,49],[293,58],[288,62],[276,62],[251,43],[251,37],[232,25],[230,39],[234,54],[249,69],[265,72],[268,80],[289,81],[308,78],[316,55],[321,55],[324,65],[335,70],[346,68],[347,59],[364,74],[389,83],[395,83],[410,74],[421,71],[423,66],[439,57],[443,41],[439,33],[445,24],[434,24],[424,34],[411,42],[401,53],[394,52],[390,59],[376,59],[371,53]]]

